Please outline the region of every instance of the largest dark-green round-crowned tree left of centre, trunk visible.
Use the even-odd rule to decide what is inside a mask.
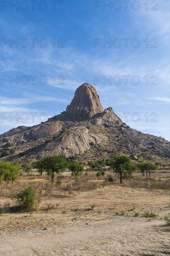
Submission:
[[[54,173],[63,172],[67,166],[65,157],[60,155],[46,156],[40,161],[44,170],[51,175],[51,181],[54,181]]]

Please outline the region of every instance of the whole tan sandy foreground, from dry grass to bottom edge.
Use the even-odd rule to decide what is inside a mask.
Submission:
[[[47,202],[59,206],[46,211]],[[169,194],[163,190],[116,185],[71,198],[46,198],[37,212],[2,214],[0,255],[170,255],[170,228],[163,220],[169,202]],[[146,211],[157,218],[142,217]],[[135,217],[135,212],[140,216]]]

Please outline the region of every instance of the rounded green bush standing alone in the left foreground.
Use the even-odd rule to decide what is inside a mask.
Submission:
[[[35,195],[35,192],[31,186],[26,189],[22,189],[20,193],[15,196],[15,198],[20,207],[24,209],[33,209],[33,206],[37,201],[37,196]]]

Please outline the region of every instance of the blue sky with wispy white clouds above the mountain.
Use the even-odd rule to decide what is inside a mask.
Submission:
[[[168,0],[2,2],[1,133],[59,114],[88,82],[131,128],[170,140]]]

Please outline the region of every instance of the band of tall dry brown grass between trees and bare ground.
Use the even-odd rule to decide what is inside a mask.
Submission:
[[[108,182],[108,175],[113,177],[113,182]],[[82,174],[78,177],[71,175],[56,175],[56,180],[61,181],[61,184],[56,182],[51,183],[47,175],[22,175],[18,182],[14,183],[0,183],[0,197],[12,198],[19,193],[22,189],[33,186],[39,198],[54,197],[54,198],[70,198],[74,196],[74,192],[91,191],[101,189],[108,185],[119,185],[119,178],[113,175],[112,172],[107,172],[105,176],[96,176],[96,172],[88,171],[88,175]],[[127,186],[131,188],[144,188],[144,189],[162,189],[169,190],[170,181],[165,178],[152,177],[143,178],[133,177],[131,179],[124,179],[123,184],[120,186]]]

